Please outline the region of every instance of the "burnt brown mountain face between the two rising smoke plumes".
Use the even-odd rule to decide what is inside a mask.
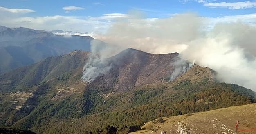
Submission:
[[[112,69],[97,78],[91,85],[105,84],[115,91],[126,91],[135,86],[167,82],[180,59],[178,53],[149,54],[128,48],[111,57]]]

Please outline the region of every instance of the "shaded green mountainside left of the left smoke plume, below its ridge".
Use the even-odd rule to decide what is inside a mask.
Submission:
[[[81,71],[88,54],[89,52],[74,51],[64,56],[49,57],[39,63],[4,73],[0,75],[0,91],[18,91],[17,85],[34,86],[74,69]]]

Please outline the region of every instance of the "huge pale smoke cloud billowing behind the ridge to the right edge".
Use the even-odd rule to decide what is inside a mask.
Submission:
[[[256,91],[256,28],[242,22],[218,23],[193,13],[176,14],[166,19],[142,19],[134,15],[119,19],[97,39],[113,49],[135,48],[164,54],[179,52],[181,57],[217,71],[222,82],[235,83]],[[102,52],[101,52],[102,53]]]

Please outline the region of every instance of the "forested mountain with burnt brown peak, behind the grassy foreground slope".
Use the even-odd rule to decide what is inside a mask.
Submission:
[[[255,102],[252,90],[220,83],[213,70],[190,67],[178,53],[128,48],[106,59],[110,69],[84,82],[90,55],[74,51],[0,75],[0,126],[45,134],[125,134],[159,117]],[[185,71],[171,79],[180,67]]]

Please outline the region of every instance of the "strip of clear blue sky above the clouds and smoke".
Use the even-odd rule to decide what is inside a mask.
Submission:
[[[208,2],[246,2],[247,0],[211,0]],[[256,2],[251,0],[250,2]],[[230,10],[228,8],[206,7],[196,0],[1,0],[0,5],[6,8],[32,9],[36,12],[31,16],[75,15],[75,16],[101,16],[106,13],[127,13],[138,9],[146,12],[147,17],[168,17],[169,14],[195,12],[206,17],[220,17],[236,14],[256,13],[254,8]],[[65,6],[82,7],[66,13]]]

